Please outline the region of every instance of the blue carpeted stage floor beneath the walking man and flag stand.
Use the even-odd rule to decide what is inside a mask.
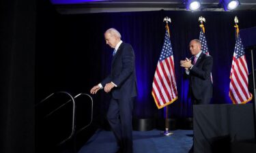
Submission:
[[[192,130],[171,131],[170,136],[161,131],[133,131],[134,153],[188,153],[193,144]],[[98,130],[79,150],[79,153],[114,153],[117,151],[115,137],[111,131]]]

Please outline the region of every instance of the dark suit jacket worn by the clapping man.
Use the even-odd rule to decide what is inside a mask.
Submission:
[[[201,101],[197,104],[210,103],[212,98],[212,65],[212,56],[202,52],[197,59],[197,63],[190,69],[190,92],[196,100]]]

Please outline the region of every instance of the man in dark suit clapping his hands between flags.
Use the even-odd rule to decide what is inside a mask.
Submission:
[[[190,95],[193,104],[209,104],[212,99],[212,65],[213,58],[201,52],[201,42],[198,39],[190,41],[189,49],[192,58],[180,61],[190,78]],[[192,62],[193,61],[193,62]]]

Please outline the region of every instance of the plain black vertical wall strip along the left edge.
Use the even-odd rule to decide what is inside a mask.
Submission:
[[[35,1],[0,1],[0,152],[34,152]]]

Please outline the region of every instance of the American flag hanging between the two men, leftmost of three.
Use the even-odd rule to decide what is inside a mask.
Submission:
[[[158,109],[173,103],[173,101],[177,99],[173,50],[171,48],[171,40],[167,29],[165,31],[165,42],[162,46],[162,51],[156,67],[152,88],[152,95]]]

